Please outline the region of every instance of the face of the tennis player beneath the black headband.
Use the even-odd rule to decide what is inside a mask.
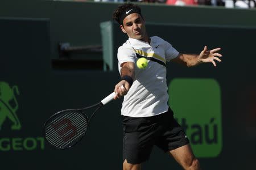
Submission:
[[[121,29],[124,33],[127,33],[128,37],[130,38],[137,40],[146,39],[147,34],[145,22],[141,15],[137,13],[126,16],[126,18],[123,19],[123,25],[121,25]]]

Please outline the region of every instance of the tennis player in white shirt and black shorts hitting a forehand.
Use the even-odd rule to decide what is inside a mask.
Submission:
[[[114,99],[124,96],[121,114],[123,124],[123,169],[141,169],[155,145],[168,152],[184,169],[200,169],[189,140],[175,121],[169,108],[166,62],[188,67],[200,63],[221,62],[220,48],[197,54],[182,54],[158,36],[148,37],[141,8],[128,3],[117,8],[113,18],[129,39],[118,48],[121,81],[115,86]],[[138,58],[148,59],[146,69],[138,69]],[[122,87],[123,86],[123,87]]]

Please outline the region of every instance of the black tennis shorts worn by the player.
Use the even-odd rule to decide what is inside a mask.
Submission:
[[[122,116],[123,162],[139,164],[149,159],[153,146],[164,152],[189,143],[181,126],[168,112],[152,117]]]

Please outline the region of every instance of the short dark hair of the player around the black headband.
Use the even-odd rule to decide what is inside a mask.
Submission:
[[[123,21],[120,20],[121,15],[123,14],[123,12],[125,12],[128,9],[134,8],[136,11],[139,11],[139,14],[142,17],[141,14],[141,7],[139,7],[138,5],[135,5],[133,3],[124,3],[123,5],[119,5],[118,8],[113,12],[113,19],[116,20],[120,25],[123,25]],[[143,19],[143,17],[142,17]]]

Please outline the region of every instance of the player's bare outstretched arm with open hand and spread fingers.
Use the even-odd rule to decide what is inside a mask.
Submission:
[[[212,50],[207,50],[207,46],[204,46],[204,50],[201,51],[199,55],[197,54],[182,54],[172,59],[173,62],[181,63],[188,67],[197,66],[200,63],[204,62],[212,62],[214,66],[216,66],[216,61],[221,62],[221,59],[218,57],[222,57],[220,53],[217,53],[221,48],[215,48]]]

